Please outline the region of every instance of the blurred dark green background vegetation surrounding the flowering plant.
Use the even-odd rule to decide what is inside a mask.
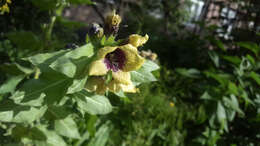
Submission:
[[[1,0],[0,6],[6,2]],[[45,134],[55,137],[53,140],[59,141],[59,145],[75,146],[260,146],[260,3],[258,0],[220,2],[219,18],[213,21],[208,15],[214,2],[13,0],[8,3],[10,11],[1,9],[0,15],[1,112],[16,108],[7,97],[24,80],[34,76],[35,70],[29,69],[32,66],[22,58],[84,45],[89,25],[92,22],[103,25],[105,14],[112,9],[123,19],[117,39],[132,33],[148,34],[149,41],[140,51],[156,53],[158,58],[154,61],[160,64],[160,69],[153,72],[158,81],[140,85],[140,93],[120,97],[109,94],[111,113],[70,115],[65,121],[72,125],[69,135],[46,130],[45,123],[54,124],[50,112],[45,113],[46,121],[40,121],[38,129],[33,127],[39,124],[37,116],[43,114],[41,110],[32,111],[27,119],[12,122],[6,121],[7,114],[1,113],[0,145],[45,145],[39,142],[46,140],[42,139]],[[195,11],[193,8],[201,3],[201,11]],[[233,10],[234,17],[223,10],[231,4],[238,7]],[[74,19],[84,14],[88,14],[85,21]],[[240,22],[243,25],[235,25]],[[36,85],[39,84],[28,88]],[[60,96],[57,90],[46,93]],[[69,110],[82,113],[75,105],[68,106]],[[60,118],[67,116],[65,109],[52,108]],[[30,122],[31,118],[36,121]],[[31,139],[38,142],[31,143]]]

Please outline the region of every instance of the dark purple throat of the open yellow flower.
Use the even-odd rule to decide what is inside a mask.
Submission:
[[[125,60],[125,53],[121,49],[117,48],[114,52],[106,55],[104,62],[108,69],[117,72],[119,69],[123,68]]]

